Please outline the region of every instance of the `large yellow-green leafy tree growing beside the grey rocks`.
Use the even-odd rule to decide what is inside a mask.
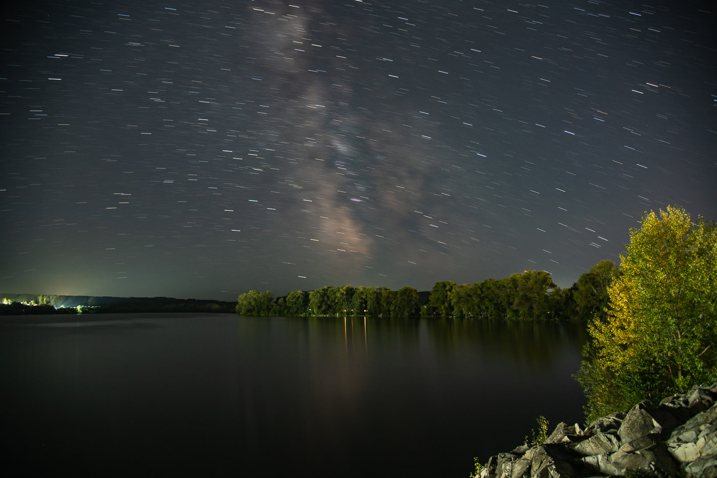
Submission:
[[[630,230],[577,378],[588,418],[717,378],[717,229],[678,207]]]

